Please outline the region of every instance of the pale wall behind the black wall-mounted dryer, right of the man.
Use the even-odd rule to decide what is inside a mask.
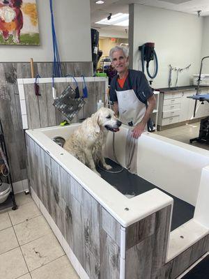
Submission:
[[[189,85],[192,82],[192,75],[199,71],[202,31],[202,17],[131,4],[130,68],[139,70],[139,45],[154,42],[159,70],[153,81],[153,87],[168,87],[169,64],[176,68],[185,68],[191,63],[192,66],[189,70],[184,70],[178,75],[177,84],[177,86]],[[176,73],[173,72],[173,86],[175,85],[175,76]]]

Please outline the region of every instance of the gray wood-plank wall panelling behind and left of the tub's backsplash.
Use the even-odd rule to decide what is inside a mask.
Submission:
[[[34,62],[34,75],[52,77],[52,62]],[[75,77],[93,75],[92,62],[61,62],[63,77],[71,74]],[[22,181],[26,182],[26,149],[24,144],[24,131],[22,130],[22,117],[17,79],[31,77],[31,64],[29,62],[3,62],[0,63],[0,119],[8,150],[10,172],[13,178],[14,190],[19,192]],[[53,112],[52,107],[52,112]],[[42,121],[43,122],[43,121]],[[56,119],[59,125],[60,119]],[[53,124],[55,125],[55,124]],[[31,127],[33,128],[33,127]],[[20,183],[19,183],[20,182]]]

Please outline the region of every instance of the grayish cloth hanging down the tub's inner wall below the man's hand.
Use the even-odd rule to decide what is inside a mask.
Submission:
[[[137,174],[138,139],[132,136],[132,128],[127,132],[125,145],[125,166],[132,174]]]

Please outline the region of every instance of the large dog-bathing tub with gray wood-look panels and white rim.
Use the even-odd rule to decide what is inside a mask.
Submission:
[[[171,197],[153,189],[127,199],[51,140],[68,137],[77,125],[27,130],[26,150],[32,197],[80,278],[174,279],[208,252],[209,220],[201,206],[208,207],[201,195],[209,167],[201,175],[194,220],[170,233]],[[118,138],[120,133],[123,144],[127,129]],[[158,148],[159,141],[171,145],[161,138],[147,133],[139,145],[148,140]]]

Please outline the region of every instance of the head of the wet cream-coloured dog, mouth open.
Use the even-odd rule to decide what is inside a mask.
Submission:
[[[99,129],[111,130],[112,132],[118,132],[121,126],[121,121],[116,119],[114,112],[107,107],[101,107],[98,112],[95,113]]]

